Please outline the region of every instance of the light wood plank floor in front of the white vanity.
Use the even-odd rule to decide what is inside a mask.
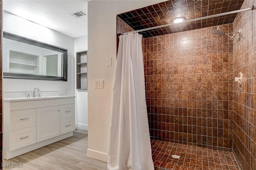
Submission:
[[[22,163],[22,168],[4,170],[106,170],[107,163],[87,157],[88,133],[76,130],[74,136],[33,150],[4,164]]]

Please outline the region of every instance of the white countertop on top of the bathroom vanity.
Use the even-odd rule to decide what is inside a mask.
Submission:
[[[4,102],[17,102],[17,101],[33,101],[33,100],[48,100],[48,99],[64,99],[74,98],[75,96],[43,96],[43,97],[20,97],[20,98],[7,98]]]

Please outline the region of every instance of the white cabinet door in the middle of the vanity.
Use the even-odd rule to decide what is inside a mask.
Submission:
[[[60,107],[36,109],[36,142],[60,135]]]

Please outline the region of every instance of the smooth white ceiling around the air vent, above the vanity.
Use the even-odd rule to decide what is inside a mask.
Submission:
[[[87,35],[88,0],[4,0],[3,10],[77,38]],[[70,14],[82,10],[86,16]]]

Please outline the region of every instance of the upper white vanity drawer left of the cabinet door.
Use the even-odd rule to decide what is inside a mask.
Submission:
[[[36,126],[36,109],[10,111],[10,131]]]

